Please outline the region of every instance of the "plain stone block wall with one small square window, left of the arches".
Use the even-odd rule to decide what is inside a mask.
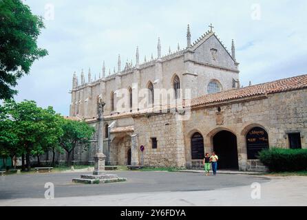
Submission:
[[[135,118],[135,133],[138,145],[145,146],[144,166],[185,166],[182,123],[175,113]],[[151,147],[151,138],[156,137],[158,148]],[[142,162],[142,153],[139,153]]]

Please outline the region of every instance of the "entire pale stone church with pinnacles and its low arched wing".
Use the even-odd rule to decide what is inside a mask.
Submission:
[[[106,103],[103,150],[109,165],[176,166],[200,168],[204,153],[220,155],[220,168],[263,170],[257,153],[263,148],[307,148],[307,75],[262,85],[240,87],[235,45],[226,50],[213,32],[187,47],[136,65],[126,63],[117,72],[85,83],[74,74],[71,120],[85,120],[98,128],[98,100]],[[119,108],[127,91],[125,108]],[[145,105],[141,89],[147,93]],[[175,105],[156,102],[156,90],[173,91]],[[180,104],[178,104],[180,102]],[[122,107],[122,105],[120,105]],[[153,110],[155,109],[155,110]],[[89,151],[78,146],[76,162],[94,161],[98,135]],[[140,150],[140,146],[145,148]],[[59,155],[59,160],[65,155]]]

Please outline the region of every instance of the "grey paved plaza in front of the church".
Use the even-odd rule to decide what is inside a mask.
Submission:
[[[9,175],[0,180],[0,206],[306,206],[307,177],[116,171],[126,182],[73,184],[82,173]],[[45,199],[45,183],[54,199]],[[251,184],[261,186],[252,199]]]

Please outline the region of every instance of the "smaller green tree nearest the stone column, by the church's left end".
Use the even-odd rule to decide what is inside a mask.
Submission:
[[[63,119],[63,136],[60,144],[67,152],[67,166],[72,165],[72,152],[77,144],[81,144],[86,150],[89,146],[89,141],[94,135],[95,129],[85,122]]]

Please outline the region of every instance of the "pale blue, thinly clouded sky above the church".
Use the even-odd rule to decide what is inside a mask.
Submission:
[[[187,46],[187,24],[192,41],[212,23],[222,43],[231,49],[234,39],[240,63],[240,81],[247,86],[307,74],[307,1],[224,0],[24,0],[44,18],[39,47],[48,56],[35,61],[31,72],[19,80],[15,100],[35,100],[69,115],[72,76],[91,68],[98,77],[103,61],[108,69],[157,56],[169,46]]]

